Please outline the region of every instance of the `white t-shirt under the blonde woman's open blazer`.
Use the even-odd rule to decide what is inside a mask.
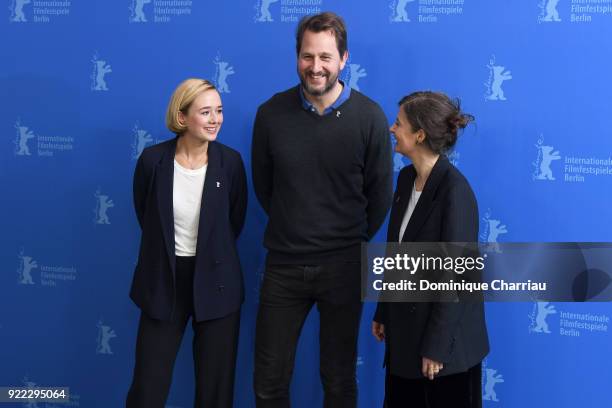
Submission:
[[[174,160],[174,250],[177,256],[195,256],[206,168],[191,170]]]

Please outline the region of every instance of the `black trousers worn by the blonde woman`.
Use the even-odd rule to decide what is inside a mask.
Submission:
[[[173,321],[141,313],[136,340],[134,379],[127,408],[164,408],[174,361],[189,318],[193,317],[194,257],[177,257],[177,304]],[[196,322],[192,319],[196,408],[231,408],[240,311]]]

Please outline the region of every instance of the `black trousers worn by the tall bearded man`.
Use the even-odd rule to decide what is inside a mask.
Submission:
[[[357,406],[355,363],[361,319],[360,264],[267,265],[255,333],[255,399],[287,408],[295,349],[316,303],[324,407]]]

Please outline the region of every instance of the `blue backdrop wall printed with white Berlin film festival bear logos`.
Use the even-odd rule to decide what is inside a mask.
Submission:
[[[483,241],[612,240],[612,0],[3,2],[0,385],[68,386],[69,406],[122,406],[138,319],[128,299],[135,160],[172,137],[164,113],[176,85],[203,77],[222,92],[220,140],[249,168],[257,106],[297,83],[306,13],[345,17],[342,77],[390,121],[403,95],[423,89],[460,97],[476,116],[451,159],[476,192]],[[396,155],[396,172],[405,164]],[[254,405],[265,256],[266,218],[249,188],[237,407]],[[357,362],[367,408],[381,406],[384,382],[372,306]],[[610,316],[610,303],[488,304],[485,406],[612,406]],[[317,319],[300,340],[296,407],[321,406]],[[168,407],[192,406],[190,338]]]

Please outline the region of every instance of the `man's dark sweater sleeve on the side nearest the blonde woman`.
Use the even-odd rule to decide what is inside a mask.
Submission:
[[[259,108],[253,125],[251,169],[253,171],[255,195],[266,214],[269,214],[272,197],[272,158],[268,150],[268,134],[263,125],[263,117],[264,114]]]

